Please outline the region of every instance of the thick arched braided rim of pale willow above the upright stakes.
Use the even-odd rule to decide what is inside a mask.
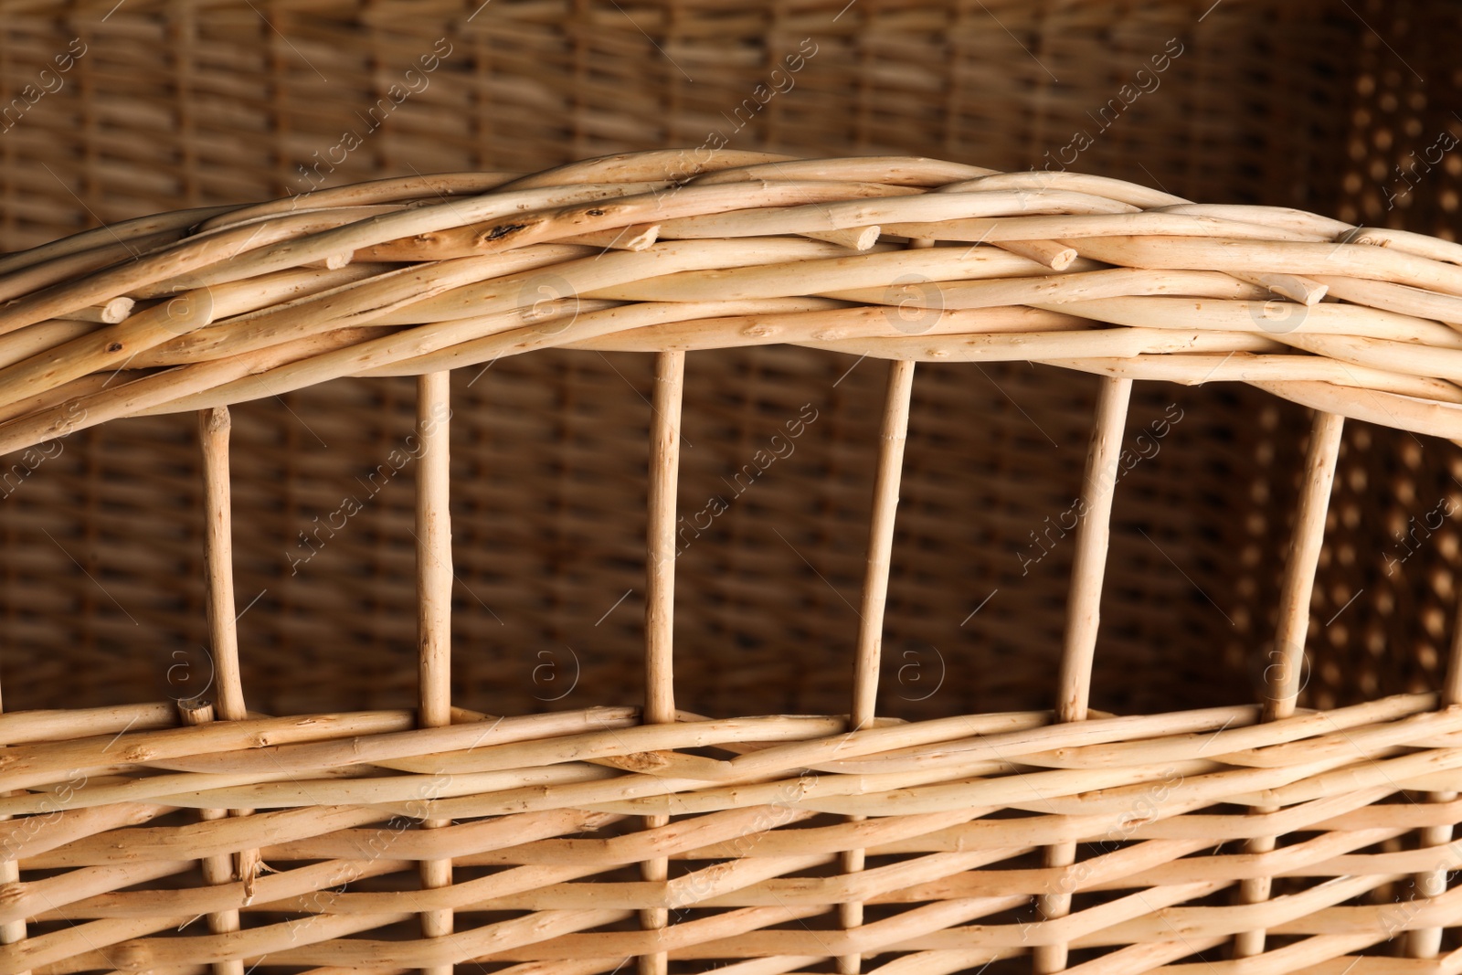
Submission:
[[[768,342],[1241,380],[1462,439],[1462,339],[1443,325],[1462,325],[1462,246],[1080,174],[725,152],[668,181],[686,165],[662,152],[518,181],[387,180],[320,190],[308,209],[184,210],[13,256],[0,263],[0,450],[537,348]],[[880,229],[968,246],[898,253],[874,243]],[[108,269],[130,237],[158,250]],[[130,317],[88,320],[118,295]]]

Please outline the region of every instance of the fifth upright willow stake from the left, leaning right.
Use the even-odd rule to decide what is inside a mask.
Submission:
[[[1130,402],[1130,379],[1101,382],[1096,427],[1086,450],[1086,474],[1082,479],[1083,510],[1076,528],[1072,592],[1066,605],[1066,639],[1056,699],[1057,721],[1086,721],[1092,658],[1096,653],[1096,630],[1101,623],[1101,588],[1107,576],[1107,547],[1111,541],[1111,498],[1117,490],[1117,459],[1121,453],[1121,434],[1127,425]],[[1073,862],[1076,862],[1076,843],[1045,848],[1047,867],[1069,867]],[[1035,903],[1041,921],[1064,918],[1072,911],[1072,895],[1064,890],[1044,893]],[[1035,947],[1031,952],[1032,971],[1037,975],[1064,971],[1067,953],[1066,944]]]

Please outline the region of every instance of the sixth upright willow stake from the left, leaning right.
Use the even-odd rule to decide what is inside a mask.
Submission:
[[[1263,721],[1279,721],[1294,713],[1300,696],[1300,674],[1304,668],[1304,639],[1310,630],[1310,596],[1314,592],[1314,570],[1325,544],[1325,515],[1330,507],[1335,485],[1335,462],[1341,456],[1341,433],[1345,418],[1316,412],[1310,427],[1310,450],[1304,459],[1304,484],[1300,488],[1300,509],[1294,522],[1294,544],[1284,566],[1279,586],[1279,627],[1275,631],[1278,661],[1265,668]],[[1256,813],[1272,813],[1270,807],[1256,807]],[[1256,836],[1244,845],[1244,852],[1266,854],[1275,848],[1273,836]],[[1269,877],[1238,881],[1238,903],[1260,903],[1269,899]],[[1234,957],[1251,957],[1265,950],[1265,928],[1234,936]]]

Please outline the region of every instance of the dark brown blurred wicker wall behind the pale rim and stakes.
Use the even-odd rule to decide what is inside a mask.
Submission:
[[[1444,0],[0,0],[0,246],[316,183],[716,139],[1069,162],[1452,240],[1459,29]],[[649,365],[537,352],[453,377],[455,703],[640,699]],[[885,713],[1051,703],[1072,545],[1045,532],[1077,493],[1096,380],[981,373],[915,382]],[[846,712],[885,374],[810,349],[690,357],[681,513],[712,496],[730,510],[680,563],[683,707]],[[349,380],[235,408],[251,709],[411,706],[411,471],[380,465],[412,402],[409,380]],[[810,411],[735,496],[737,472]],[[1251,389],[1139,384],[1129,447],[1151,456],[1118,487],[1094,706],[1254,699],[1304,412]],[[1158,428],[1156,450],[1133,440]],[[197,693],[194,418],[121,421],[50,453],[0,471],[4,705]],[[1447,444],[1348,424],[1308,703],[1436,684],[1458,534],[1450,517],[1406,532],[1443,500],[1462,509],[1458,478]],[[363,510],[311,554],[301,532],[346,497]]]

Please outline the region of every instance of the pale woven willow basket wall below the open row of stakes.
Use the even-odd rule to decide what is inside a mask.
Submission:
[[[1456,781],[1462,716],[1425,713],[1434,705],[1395,697],[1268,725],[1254,724],[1250,707],[1077,726],[1051,725],[1048,713],[1007,713],[851,735],[835,718],[683,715],[671,726],[635,726],[624,709],[487,724],[459,715],[463,724],[452,728],[406,731],[409,713],[373,712],[308,728],[230,724],[211,728],[206,743],[203,734],[146,731],[171,718],[161,709],[88,715],[95,731],[132,728],[129,765],[102,779],[111,734],[67,744],[64,759],[57,746],[18,750],[28,770],[12,772],[16,779],[50,781],[64,763],[82,769],[72,781],[73,805],[83,808],[39,830],[10,827],[9,851],[28,867],[63,873],[18,892],[4,917],[95,921],[9,946],[0,959],[6,971],[192,971],[211,959],[253,965],[268,955],[266,966],[370,972],[573,959],[582,968],[569,971],[599,972],[627,955],[668,950],[673,959],[766,957],[756,971],[798,971],[830,953],[908,952],[871,971],[953,972],[1070,941],[1120,947],[1079,971],[1145,971],[1263,924],[1276,936],[1304,936],[1269,959],[1270,971],[1311,971],[1326,959],[1348,963],[1348,952],[1404,930],[1455,922],[1455,895],[1344,906],[1404,884],[1408,873],[1456,867],[1452,848],[1366,852],[1459,816],[1456,803],[1383,803],[1398,788]],[[15,740],[34,719],[4,721]],[[260,751],[257,741],[275,747]],[[706,747],[725,757],[689,753]],[[336,778],[319,778],[322,769]],[[387,778],[338,778],[368,773]],[[137,779],[151,785],[126,785]],[[9,798],[4,808],[38,813],[47,801]],[[1221,803],[1282,808],[1202,811]],[[170,808],[228,804],[257,813],[206,830],[155,824]],[[654,811],[684,819],[621,832],[626,817]],[[999,811],[1016,816],[991,817]],[[836,824],[827,814],[876,819]],[[417,832],[395,816],[497,819]],[[121,823],[142,827],[117,846],[107,830]],[[1307,839],[1262,857],[1196,855],[1266,832]],[[1032,849],[1063,841],[1092,843],[1092,855],[1066,868],[1029,865]],[[251,884],[253,902],[243,906],[256,922],[241,934],[154,937],[200,911],[238,908],[240,883],[108,892],[186,876],[193,858],[256,845],[279,873]],[[867,846],[879,865],[827,876],[825,867],[852,846]],[[683,870],[664,884],[614,873],[649,855]],[[360,880],[368,889],[371,877],[442,857],[471,879],[436,893],[355,890]],[[1212,896],[1256,876],[1292,879],[1295,893],[1246,909]],[[1076,893],[1079,909],[1044,919],[1031,896],[1053,890]],[[877,918],[855,934],[814,921],[854,899]],[[678,922],[662,936],[616,931],[633,909],[652,906],[674,911]],[[482,925],[436,944],[380,937],[430,908],[481,917]],[[528,914],[493,914],[504,911]]]

